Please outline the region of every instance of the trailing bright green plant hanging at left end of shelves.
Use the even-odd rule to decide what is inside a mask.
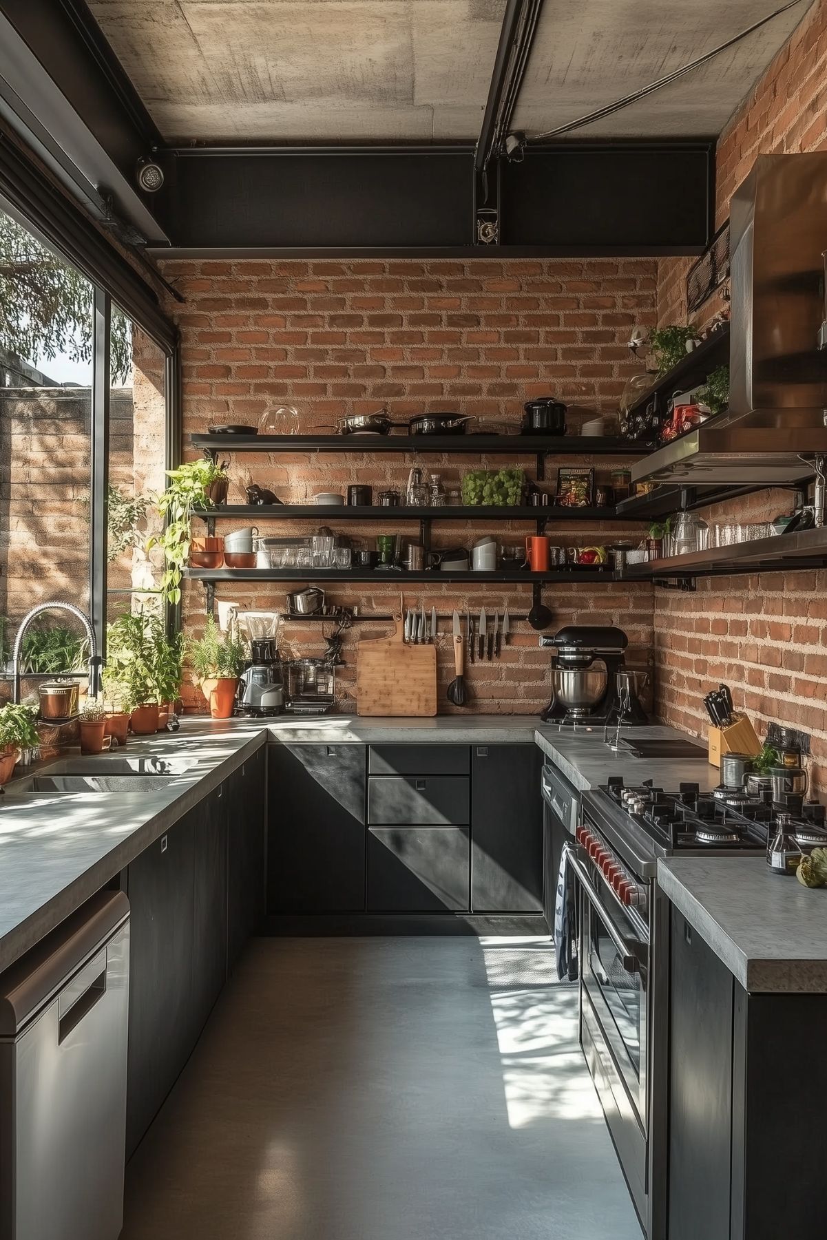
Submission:
[[[161,594],[170,603],[181,600],[181,574],[190,556],[192,542],[190,525],[193,512],[200,508],[212,508],[227,498],[229,475],[227,463],[202,456],[197,461],[186,461],[177,469],[167,470],[169,485],[159,497],[157,511],[165,520],[160,534],[154,534],[146,543],[151,551],[157,546],[164,552],[165,569],[161,577]],[[214,551],[223,546],[221,538],[213,539]],[[206,541],[205,541],[206,543]],[[210,549],[205,547],[205,549]]]

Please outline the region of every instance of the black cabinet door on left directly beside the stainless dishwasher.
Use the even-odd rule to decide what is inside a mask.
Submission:
[[[172,1087],[192,1044],[196,806],[129,867],[126,1157]]]

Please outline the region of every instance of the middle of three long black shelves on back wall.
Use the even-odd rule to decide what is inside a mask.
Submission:
[[[255,517],[268,521],[320,521],[325,525],[337,521],[624,521],[630,520],[615,512],[614,506],[599,508],[565,507],[552,503],[503,507],[444,507],[444,508],[407,508],[384,507],[379,503],[368,507],[324,503],[228,503],[218,508],[205,508],[196,512],[205,521],[231,517]]]

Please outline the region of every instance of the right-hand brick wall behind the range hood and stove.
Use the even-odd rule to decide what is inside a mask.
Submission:
[[[717,154],[717,222],[755,156],[827,146],[827,2],[813,5],[722,134]],[[658,268],[658,322],[686,321],[689,259]],[[714,310],[713,300],[699,320]],[[789,511],[782,491],[701,513],[707,520],[761,521]],[[779,719],[813,733],[816,785],[827,790],[827,574],[733,577],[698,582],[694,595],[655,590],[658,706],[663,718],[705,732],[702,697],[718,681],[763,724]],[[818,770],[822,768],[823,774]]]

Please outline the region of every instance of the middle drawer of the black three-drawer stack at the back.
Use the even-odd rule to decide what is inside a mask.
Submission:
[[[471,781],[466,775],[372,775],[367,784],[371,826],[467,826]]]

